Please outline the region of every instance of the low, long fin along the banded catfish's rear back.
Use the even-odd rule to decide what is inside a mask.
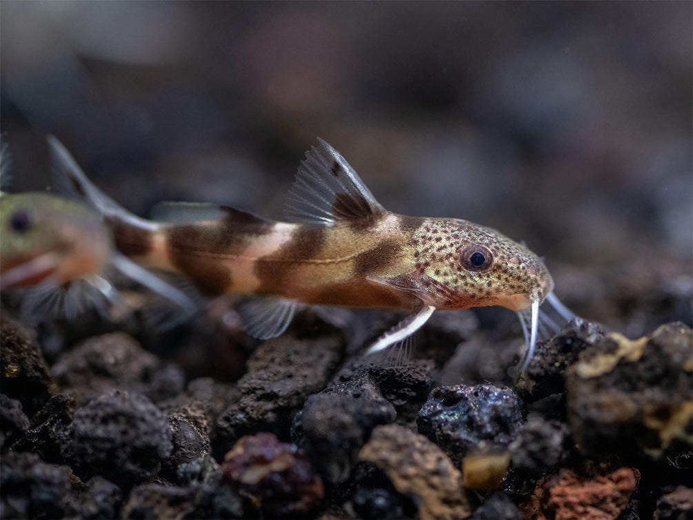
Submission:
[[[203,220],[218,222],[225,218],[234,223],[263,225],[270,223],[270,220],[243,209],[206,202],[159,202],[152,209],[153,220],[172,224],[192,224]]]

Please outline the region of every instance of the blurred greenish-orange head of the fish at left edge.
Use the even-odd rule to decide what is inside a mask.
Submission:
[[[0,285],[53,285],[98,272],[110,236],[87,207],[48,193],[3,194]]]

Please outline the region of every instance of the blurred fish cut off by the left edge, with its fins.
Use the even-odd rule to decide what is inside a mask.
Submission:
[[[0,177],[6,180],[4,144],[0,156]],[[112,229],[93,208],[52,193],[0,191],[0,288],[28,288],[24,300],[31,312],[69,318],[85,306],[103,310],[97,294],[117,299],[105,277],[108,268],[164,296],[186,315],[194,312],[184,293],[116,250]]]

